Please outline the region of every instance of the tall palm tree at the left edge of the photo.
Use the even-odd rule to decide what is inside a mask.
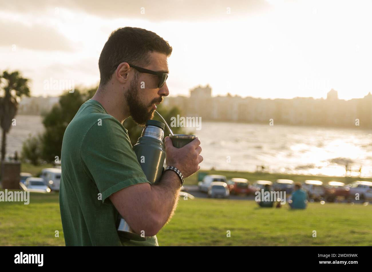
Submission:
[[[3,130],[1,140],[1,159],[4,161],[6,149],[6,134],[12,125],[12,120],[17,114],[18,101],[22,95],[30,96],[28,78],[23,78],[18,72],[4,71],[0,74],[0,127]]]

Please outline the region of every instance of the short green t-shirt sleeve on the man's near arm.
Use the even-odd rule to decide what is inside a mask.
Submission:
[[[128,186],[150,183],[132,150],[124,127],[113,118],[97,121],[81,144],[83,168],[102,193],[102,202]],[[151,184],[151,183],[150,183]]]

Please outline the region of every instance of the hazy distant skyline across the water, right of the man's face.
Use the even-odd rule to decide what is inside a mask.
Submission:
[[[293,124],[303,126],[372,128],[372,94],[364,98],[341,100],[336,90],[327,99],[296,97],[293,99],[261,99],[238,95],[212,97],[212,88],[198,86],[190,90],[190,97],[167,97],[165,106],[179,107],[185,116],[202,120],[226,122]]]

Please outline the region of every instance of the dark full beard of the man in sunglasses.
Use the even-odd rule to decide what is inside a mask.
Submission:
[[[145,90],[142,90],[145,91]],[[154,101],[153,103],[160,102]],[[145,126],[146,121],[153,119],[155,111],[150,109],[151,105],[144,105],[140,101],[140,91],[138,90],[138,75],[135,74],[134,79],[129,86],[129,90],[126,95],[126,103],[129,106],[129,113],[132,116],[133,121],[140,125]]]

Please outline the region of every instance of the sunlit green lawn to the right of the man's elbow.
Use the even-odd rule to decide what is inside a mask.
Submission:
[[[361,204],[311,203],[294,211],[288,205],[260,208],[255,201],[180,199],[157,237],[162,246],[366,246],[372,245],[371,212],[371,205]]]

